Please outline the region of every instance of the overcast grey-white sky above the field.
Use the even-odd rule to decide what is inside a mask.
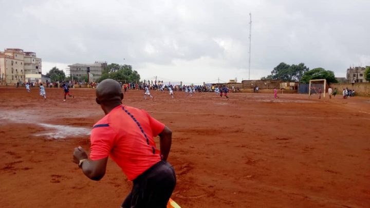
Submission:
[[[369,0],[0,0],[0,50],[42,58],[43,73],[68,64],[130,64],[142,80],[250,79],[280,62],[345,77],[370,65]]]

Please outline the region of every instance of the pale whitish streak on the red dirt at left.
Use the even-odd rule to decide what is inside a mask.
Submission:
[[[36,112],[29,111],[5,111],[3,115],[0,115],[0,120],[8,120],[12,123],[28,123],[35,124],[46,128],[45,131],[34,136],[45,136],[50,139],[63,139],[66,137],[78,137],[90,135],[90,128],[85,127],[75,127],[67,125],[54,125],[46,123],[38,123],[40,116],[36,115]]]

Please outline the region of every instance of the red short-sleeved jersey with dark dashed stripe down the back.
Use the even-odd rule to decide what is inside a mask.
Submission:
[[[161,160],[153,138],[163,129],[146,111],[117,106],[91,130],[90,159],[110,156],[132,181]]]

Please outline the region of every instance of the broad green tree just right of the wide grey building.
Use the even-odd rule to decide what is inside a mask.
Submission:
[[[140,75],[136,70],[132,70],[131,65],[109,64],[102,71],[99,82],[105,79],[114,79],[126,82],[139,82]]]

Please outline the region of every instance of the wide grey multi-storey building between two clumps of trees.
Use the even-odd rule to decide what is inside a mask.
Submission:
[[[90,73],[94,76],[94,81],[101,77],[103,69],[107,66],[107,62],[95,62],[94,64],[72,64],[69,67],[69,76],[81,78],[87,75],[87,67]]]

